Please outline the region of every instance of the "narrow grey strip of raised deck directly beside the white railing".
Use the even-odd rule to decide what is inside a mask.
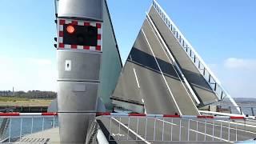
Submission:
[[[190,83],[194,93],[197,94],[198,99],[203,104],[217,102],[218,98],[216,94],[214,94],[214,91],[210,88],[202,74],[200,74],[197,67],[194,66],[194,63],[182,49],[182,46],[179,45],[178,41],[166,26],[166,24],[162,21],[162,18],[160,18],[154,7],[151,7],[149,15],[150,18],[152,18],[154,21],[154,25],[158,28],[160,34],[162,34],[162,38],[165,40],[166,45],[170,49],[170,52],[174,55],[174,58],[178,62],[178,65],[182,69],[182,72],[185,75],[187,81]]]

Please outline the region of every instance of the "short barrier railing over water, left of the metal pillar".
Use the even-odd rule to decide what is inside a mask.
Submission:
[[[57,113],[0,113],[0,121],[7,119],[1,143],[23,142],[28,134],[43,132],[58,126]],[[26,139],[30,142],[46,142],[46,138]],[[26,143],[24,142],[24,143]],[[47,143],[47,142],[46,142]]]

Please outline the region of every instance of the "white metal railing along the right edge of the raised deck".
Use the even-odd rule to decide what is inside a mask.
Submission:
[[[174,34],[175,38],[178,40],[183,50],[186,51],[186,54],[190,57],[190,60],[194,63],[194,66],[197,67],[199,72],[206,79],[206,82],[208,82],[212,90],[214,90],[214,93],[218,96],[218,99],[222,100],[227,97],[230,99],[230,102],[232,102],[234,106],[238,106],[237,103],[234,102],[234,99],[231,98],[230,94],[228,94],[227,91],[223,88],[218,78],[216,78],[213,72],[210,70],[210,68],[206,66],[206,63],[202,60],[202,58],[199,56],[196,50],[194,50],[194,47],[190,44],[190,42],[186,40],[186,38],[183,36],[180,30],[178,30],[178,27],[169,18],[169,16],[158,4],[158,2],[153,0],[152,6],[158,12],[160,17],[162,18],[162,21],[166,23],[166,26],[169,27],[169,30],[172,32],[172,34]],[[242,111],[239,108],[237,110],[239,113],[241,113]]]

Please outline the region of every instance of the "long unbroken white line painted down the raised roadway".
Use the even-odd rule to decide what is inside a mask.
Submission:
[[[143,29],[142,29],[142,34],[143,34],[144,37],[146,38],[146,34],[144,33],[144,30],[143,30]],[[154,56],[154,60],[155,60],[155,62],[157,63],[158,69],[160,70],[160,72],[161,72],[161,74],[162,74],[162,78],[163,78],[164,81],[166,82],[166,78],[165,78],[165,76],[164,76],[163,73],[162,73],[162,70],[161,70],[161,68],[160,68],[160,66],[159,66],[159,64],[158,64],[158,60],[157,60],[157,58],[155,58],[154,52],[153,52],[153,50],[152,50],[152,48],[151,48],[151,46],[150,46],[150,42],[148,41],[147,38],[146,38],[146,42],[147,42],[148,46],[150,47],[151,53],[152,53],[153,56]],[[169,92],[170,92],[171,97],[172,97],[173,100],[174,100],[175,105],[177,106],[178,113],[179,113],[180,115],[182,115],[182,112],[181,112],[181,110],[179,110],[178,104],[177,104],[177,102],[175,101],[174,95],[172,94],[172,92],[171,92],[171,90],[170,90],[170,87],[168,86],[168,83],[167,83],[167,82],[166,82],[166,86],[167,86],[167,89],[168,89]]]

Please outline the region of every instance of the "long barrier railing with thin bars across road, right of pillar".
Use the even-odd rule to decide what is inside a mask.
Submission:
[[[109,131],[108,140],[117,142],[238,142],[252,139],[256,134],[246,126],[243,116],[99,115],[98,119],[105,122]]]

